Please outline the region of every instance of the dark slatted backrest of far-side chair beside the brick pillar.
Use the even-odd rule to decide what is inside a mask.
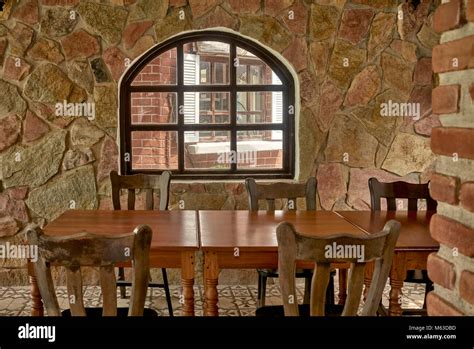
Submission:
[[[413,184],[407,182],[384,183],[377,178],[369,179],[370,206],[372,211],[380,211],[380,201],[387,200],[387,210],[396,211],[396,199],[408,199],[408,210],[418,209],[418,199],[425,199],[428,210],[436,210],[437,202],[431,198],[429,184]]]

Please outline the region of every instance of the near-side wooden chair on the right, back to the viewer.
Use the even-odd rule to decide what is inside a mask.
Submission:
[[[308,237],[300,235],[292,224],[288,222],[280,223],[276,234],[283,306],[258,309],[257,316],[270,314],[274,316],[298,316],[300,313],[310,316],[326,315],[329,311],[327,304],[325,304],[325,294],[329,282],[331,263],[334,262],[351,263],[346,303],[343,309],[340,305],[335,307],[342,310],[342,316],[355,316],[359,309],[364,287],[365,264],[370,261],[375,261],[375,270],[362,315],[376,315],[390,272],[399,233],[400,223],[394,220],[387,222],[379,233],[362,238],[347,234],[330,237]],[[360,248],[360,251],[363,251],[363,258],[354,255],[353,252],[345,256],[328,254],[328,250],[332,249],[333,246],[343,246],[343,249],[347,251],[355,251],[354,249]],[[350,249],[346,249],[346,247]],[[298,306],[296,302],[295,265],[297,260],[315,262],[309,306]],[[334,315],[336,311],[330,313]]]

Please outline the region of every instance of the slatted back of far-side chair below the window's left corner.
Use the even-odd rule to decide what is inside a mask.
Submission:
[[[135,191],[137,189],[146,191],[146,210],[153,210],[153,192],[160,192],[160,211],[168,209],[169,190],[170,190],[171,172],[164,171],[161,175],[136,174],[130,176],[121,176],[117,171],[110,172],[110,181],[112,183],[112,202],[114,210],[120,210],[120,191],[128,190],[127,209],[135,209]]]

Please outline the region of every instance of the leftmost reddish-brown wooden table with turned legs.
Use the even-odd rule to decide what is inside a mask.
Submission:
[[[181,268],[183,315],[194,315],[194,258],[199,249],[196,211],[81,211],[70,210],[48,224],[48,235],[70,235],[87,231],[95,234],[126,234],[147,224],[153,230],[150,267]],[[43,303],[34,268],[29,265],[32,285],[32,315],[43,315]]]

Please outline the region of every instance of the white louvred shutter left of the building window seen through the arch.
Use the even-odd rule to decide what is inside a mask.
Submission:
[[[199,84],[199,56],[184,54],[184,84]],[[188,92],[184,94],[184,123],[199,123],[199,94]],[[199,141],[199,132],[187,131],[184,133],[184,142],[192,143]]]

